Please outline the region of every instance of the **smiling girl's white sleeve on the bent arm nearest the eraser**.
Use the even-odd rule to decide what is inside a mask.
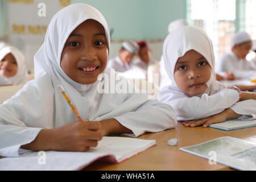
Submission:
[[[172,129],[177,125],[174,109],[158,100],[148,100],[135,111],[114,118],[121,125],[133,131],[132,135],[127,134],[131,137],[138,137],[146,132]]]

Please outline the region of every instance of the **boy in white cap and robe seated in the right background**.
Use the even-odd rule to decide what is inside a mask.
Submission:
[[[255,68],[246,60],[251,46],[250,35],[246,32],[238,32],[231,39],[232,50],[224,53],[218,60],[216,72],[221,76],[224,72],[232,72],[235,78],[247,78],[246,71],[255,74]]]

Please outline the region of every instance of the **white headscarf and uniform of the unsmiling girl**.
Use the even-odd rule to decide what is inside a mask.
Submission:
[[[188,96],[188,94],[183,93],[174,79],[177,59],[191,49],[203,55],[212,67],[212,73],[207,82],[208,89],[200,96]],[[256,118],[255,100],[237,102],[239,99],[238,92],[227,89],[225,85],[216,81],[212,42],[201,28],[181,27],[169,34],[164,40],[163,56],[166,72],[172,80],[172,85],[160,90],[158,99],[174,107],[177,120],[188,121],[206,118],[220,113],[226,108],[230,108],[238,114]]]

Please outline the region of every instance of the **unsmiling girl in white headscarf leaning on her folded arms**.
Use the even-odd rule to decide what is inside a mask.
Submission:
[[[256,118],[256,93],[215,80],[212,42],[201,28],[180,27],[169,34],[163,56],[172,85],[160,90],[158,99],[174,107],[177,120],[188,121],[185,126],[207,127],[241,115]],[[189,121],[195,119],[200,120]]]

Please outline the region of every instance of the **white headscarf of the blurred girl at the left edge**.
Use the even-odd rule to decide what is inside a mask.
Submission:
[[[13,46],[7,46],[4,44],[0,49],[0,61],[5,57],[8,53],[11,53],[17,62],[18,71],[15,76],[6,78],[13,85],[23,85],[28,81],[28,71],[25,62],[25,57],[19,49]]]

